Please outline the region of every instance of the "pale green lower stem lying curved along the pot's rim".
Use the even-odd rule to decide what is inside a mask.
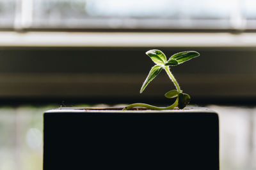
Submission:
[[[179,97],[177,97],[176,101],[171,106],[168,106],[168,107],[162,108],[162,107],[152,106],[150,104],[145,104],[145,103],[134,103],[126,106],[123,110],[129,110],[134,107],[143,107],[143,108],[148,108],[150,110],[172,110],[173,108],[178,106],[178,103],[179,103]]]

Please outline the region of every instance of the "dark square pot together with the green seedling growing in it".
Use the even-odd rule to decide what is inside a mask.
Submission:
[[[144,103],[125,108],[59,108],[44,114],[44,170],[50,169],[219,169],[218,115],[207,108],[185,108],[170,71],[198,52],[166,59],[160,50],[146,53],[156,64],[140,92],[164,69],[176,90],[168,107]]]

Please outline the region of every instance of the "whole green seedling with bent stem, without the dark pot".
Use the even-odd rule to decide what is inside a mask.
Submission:
[[[179,52],[173,54],[168,60],[166,60],[166,56],[160,50],[149,50],[148,52],[146,52],[146,54],[153,60],[153,62],[156,65],[152,67],[152,69],[149,71],[148,76],[140,89],[140,93],[142,93],[147,87],[148,83],[150,83],[150,81],[152,81],[164,69],[168,74],[170,80],[173,81],[176,87],[176,90],[170,90],[169,92],[164,94],[164,96],[167,98],[177,98],[175,102],[168,107],[162,108],[145,103],[134,103],[126,106],[123,110],[129,110],[134,107],[143,107],[148,108],[150,110],[172,110],[177,106],[179,109],[185,108],[185,106],[189,103],[191,98],[188,94],[183,93],[182,90],[180,89],[179,83],[177,82],[177,80],[174,78],[173,74],[170,71],[170,66],[177,66],[179,64],[182,64],[183,62],[198,57],[200,54],[194,51]]]

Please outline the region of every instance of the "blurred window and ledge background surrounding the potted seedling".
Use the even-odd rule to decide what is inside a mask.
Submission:
[[[256,1],[0,0],[0,170],[42,169],[45,110],[172,103],[164,73],[139,93],[152,48],[201,54],[171,71],[219,113],[221,169],[256,169]]]

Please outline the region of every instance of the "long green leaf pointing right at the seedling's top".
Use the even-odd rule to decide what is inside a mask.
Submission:
[[[199,55],[200,55],[200,53],[194,52],[194,51],[179,52],[179,53],[173,54],[169,60],[175,59],[175,60],[177,60],[177,62],[179,64],[181,64],[187,60],[198,57]],[[169,60],[168,60],[168,62],[169,62]]]

